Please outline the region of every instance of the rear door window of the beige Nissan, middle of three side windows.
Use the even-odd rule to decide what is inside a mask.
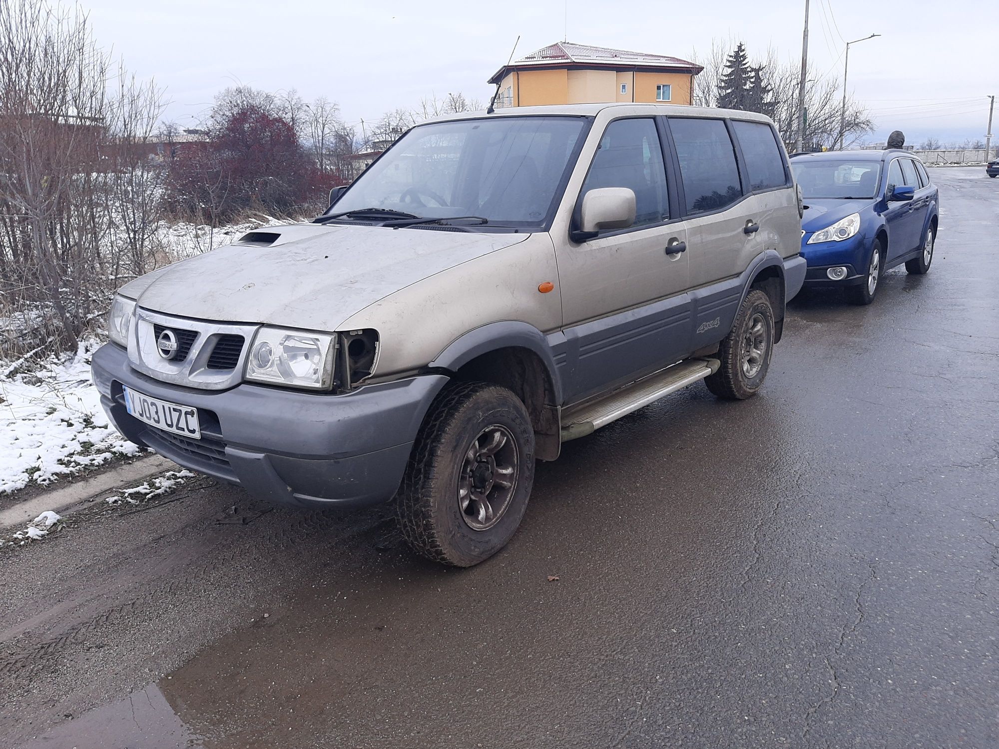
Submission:
[[[687,213],[717,211],[742,197],[735,150],[721,120],[670,118]]]

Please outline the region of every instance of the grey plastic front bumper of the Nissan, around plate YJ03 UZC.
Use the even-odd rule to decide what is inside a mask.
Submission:
[[[298,506],[364,506],[396,493],[424,414],[448,378],[423,375],[342,395],[243,383],[228,390],[168,384],[131,368],[114,344],[92,359],[101,404],[118,430],[181,465]],[[122,385],[198,408],[202,438],[129,415]]]

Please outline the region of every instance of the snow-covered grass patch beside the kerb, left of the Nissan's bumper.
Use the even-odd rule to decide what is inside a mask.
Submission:
[[[99,345],[88,339],[76,354],[27,374],[17,374],[23,363],[0,366],[0,494],[140,451],[108,421],[91,382],[90,354]]]

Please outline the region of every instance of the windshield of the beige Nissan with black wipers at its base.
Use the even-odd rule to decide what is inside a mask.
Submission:
[[[540,227],[554,210],[585,124],[579,117],[495,117],[421,125],[328,213],[377,208],[421,219],[477,217],[490,227]]]

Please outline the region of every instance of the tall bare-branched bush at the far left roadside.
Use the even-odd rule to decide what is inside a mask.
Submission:
[[[161,108],[78,8],[0,2],[0,357],[76,348],[119,280],[148,270]]]

